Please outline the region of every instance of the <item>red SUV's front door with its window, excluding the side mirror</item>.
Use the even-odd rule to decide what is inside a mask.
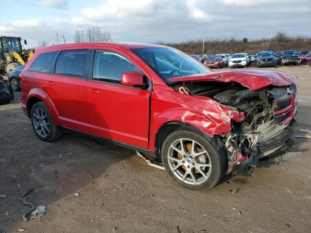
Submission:
[[[136,71],[146,75],[146,71],[138,68],[139,64],[121,50],[98,49],[91,57],[86,82],[90,133],[148,148],[151,89],[121,85],[124,72]],[[150,82],[147,77],[145,81]],[[151,88],[151,82],[149,86]]]

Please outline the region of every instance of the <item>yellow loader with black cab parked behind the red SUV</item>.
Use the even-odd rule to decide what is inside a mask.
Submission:
[[[8,74],[21,65],[25,65],[34,54],[34,50],[25,52],[20,37],[0,36],[0,74]],[[27,41],[24,40],[27,45]]]

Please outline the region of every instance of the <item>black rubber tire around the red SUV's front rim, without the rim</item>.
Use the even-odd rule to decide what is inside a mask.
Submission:
[[[172,143],[180,138],[194,140],[207,151],[211,164],[211,167],[209,168],[211,168],[211,170],[207,180],[204,181],[204,183],[189,184],[180,180],[174,175],[168,161],[170,151],[169,149]],[[191,130],[176,130],[165,138],[162,146],[162,161],[165,170],[168,171],[169,175],[173,178],[175,182],[177,182],[181,186],[196,191],[204,191],[214,187],[225,176],[228,166],[227,155],[224,147],[216,147],[212,141]],[[183,169],[183,167],[180,167],[178,169]]]

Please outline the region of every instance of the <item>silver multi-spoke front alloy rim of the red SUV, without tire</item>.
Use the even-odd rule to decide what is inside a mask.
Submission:
[[[168,162],[179,180],[192,185],[206,182],[212,169],[207,151],[189,138],[180,138],[171,144]]]

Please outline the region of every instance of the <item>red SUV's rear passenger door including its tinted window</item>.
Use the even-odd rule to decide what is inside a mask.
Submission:
[[[59,52],[52,74],[45,76],[44,90],[49,94],[61,125],[89,133],[85,85],[90,48]]]

